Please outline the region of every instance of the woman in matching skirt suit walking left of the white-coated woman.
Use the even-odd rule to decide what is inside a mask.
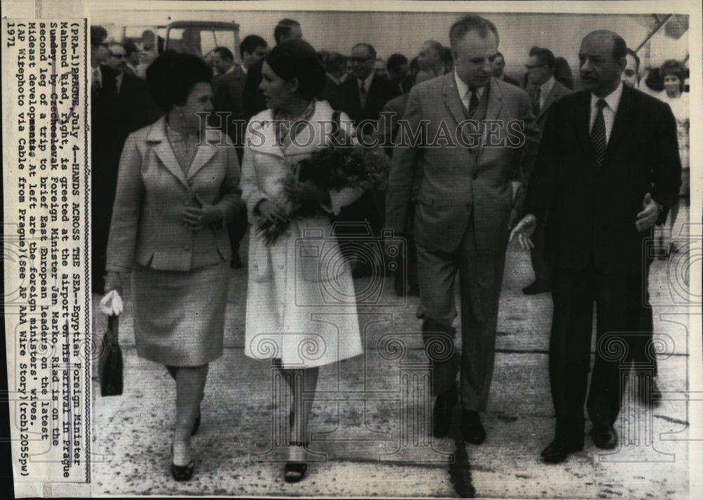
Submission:
[[[212,70],[169,53],[147,72],[165,116],[124,144],[108,241],[105,293],[131,271],[137,354],[176,380],[171,473],[193,475],[191,435],[200,425],[208,364],[221,357],[231,249],[226,222],[240,210],[239,164],[219,131],[201,129],[212,111]],[[212,140],[212,144],[208,142]]]

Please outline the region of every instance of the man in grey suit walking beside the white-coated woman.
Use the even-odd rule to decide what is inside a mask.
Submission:
[[[414,86],[408,96],[386,213],[389,228],[408,233],[406,216],[419,175],[413,229],[423,337],[434,353],[432,430],[436,437],[449,432],[461,368],[463,435],[480,444],[486,438],[479,412],[486,409],[493,376],[508,227],[524,193],[522,187],[514,198],[510,179],[521,160],[529,167],[534,159],[538,129],[527,94],[493,77],[496,26],[466,15],[452,25],[449,39],[454,71]],[[454,350],[452,328],[457,271],[461,355]]]

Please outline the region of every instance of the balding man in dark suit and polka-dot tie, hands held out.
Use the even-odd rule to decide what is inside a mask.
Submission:
[[[554,103],[525,204],[512,236],[529,248],[546,217],[554,312],[549,377],[555,439],[549,463],[583,448],[593,303],[595,364],[588,391],[593,442],[617,446],[614,422],[634,359],[644,297],[645,239],[676,203],[681,182],[676,120],[668,105],[624,86],[626,44],[617,33],[591,32],[581,42],[583,91]]]

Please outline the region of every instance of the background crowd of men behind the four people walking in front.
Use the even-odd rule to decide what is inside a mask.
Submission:
[[[273,39],[276,44],[288,39],[302,38],[302,27],[295,20],[283,19],[276,25]],[[110,222],[112,196],[114,195],[117,162],[127,135],[136,129],[153,122],[158,110],[151,100],[143,75],[145,63],[141,60],[138,44],[127,39],[123,43],[105,43],[108,33],[103,27],[91,27],[91,68],[93,74],[93,289],[102,290],[101,266],[103,265],[104,246]],[[261,82],[262,60],[270,47],[264,37],[249,34],[240,42],[239,58],[230,48],[218,46],[208,55],[207,60],[213,68],[213,106],[215,115],[212,124],[226,127],[241,160],[244,142],[244,130],[241,124],[250,120],[252,115],[264,110],[266,103],[259,90]],[[432,77],[445,75],[453,70],[451,50],[438,41],[427,40],[418,50],[418,55],[411,60],[401,53],[393,53],[387,60],[378,56],[371,44],[359,43],[351,48],[349,56],[335,51],[319,51],[321,63],[325,67],[327,80],[319,99],[330,102],[333,108],[342,110],[352,118],[354,123],[365,122],[365,133],[387,136],[392,140],[395,129],[385,129],[379,122],[378,127],[368,125],[378,120],[382,111],[394,113],[400,118],[404,109],[405,98],[394,101],[399,96],[407,96],[413,84]],[[636,68],[628,68],[624,81],[631,86],[638,86],[650,94],[657,94],[664,89],[663,78],[659,68],[648,68],[647,77],[640,86],[639,58],[630,51],[628,60]],[[502,53],[494,61],[494,77],[515,86],[521,86],[534,103],[534,114],[540,129],[543,129],[547,111],[558,98],[574,89],[574,77],[567,60],[555,57],[549,49],[532,47],[526,60],[522,83],[504,72],[505,58]],[[636,75],[633,76],[633,75]],[[635,83],[636,79],[636,83]],[[228,117],[229,124],[220,122],[220,113]],[[395,120],[394,120],[395,122]],[[392,155],[392,148],[387,148]],[[349,210],[344,217],[348,220],[366,221],[373,233],[383,223],[385,204],[383,193],[367,193]],[[247,222],[239,219],[230,228],[233,253],[233,268],[241,266],[238,252],[239,241],[247,229]],[[536,247],[531,259],[535,272],[535,281],[524,288],[524,293],[543,293],[549,290],[549,272],[544,263],[543,235],[535,235]],[[411,257],[412,260],[412,257]],[[415,274],[410,268],[410,283],[396,281],[398,293],[409,291],[417,293]],[[360,264],[354,270],[354,276],[370,274],[370,266]]]

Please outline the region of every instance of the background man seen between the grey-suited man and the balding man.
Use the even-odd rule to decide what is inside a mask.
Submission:
[[[571,91],[554,77],[554,54],[549,49],[532,47],[527,62],[527,95],[532,101],[540,132],[544,130],[547,112],[551,105]],[[544,224],[540,224],[532,235],[534,248],[530,253],[534,282],[522,289],[525,295],[544,293],[550,290],[549,267],[544,259]]]

